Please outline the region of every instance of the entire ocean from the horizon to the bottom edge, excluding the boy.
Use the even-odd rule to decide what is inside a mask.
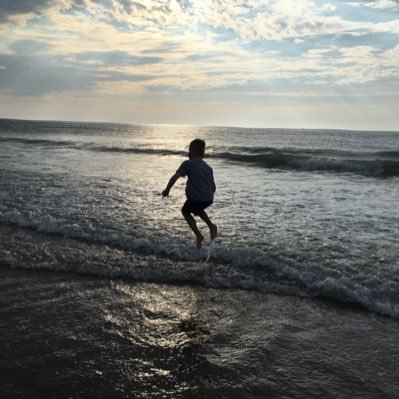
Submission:
[[[0,177],[2,397],[398,397],[398,132],[2,119]]]

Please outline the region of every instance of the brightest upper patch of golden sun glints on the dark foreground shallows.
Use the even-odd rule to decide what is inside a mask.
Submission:
[[[123,302],[105,310],[113,334],[134,344],[182,348],[202,341],[205,328],[198,316],[195,290],[154,284],[113,283]]]

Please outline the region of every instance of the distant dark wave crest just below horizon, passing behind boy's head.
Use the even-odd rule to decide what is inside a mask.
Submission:
[[[186,151],[164,148],[97,145],[46,139],[3,137],[0,138],[1,141],[115,154],[175,155],[182,157],[187,154]],[[324,149],[276,149],[269,147],[232,147],[224,149],[210,147],[207,156],[208,158],[222,159],[266,169],[355,173],[376,177],[399,176],[399,151],[356,153]]]

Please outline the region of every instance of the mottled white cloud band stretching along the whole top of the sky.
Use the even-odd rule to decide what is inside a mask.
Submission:
[[[370,20],[349,20],[337,12],[332,1],[314,0],[3,0],[0,23],[12,16],[23,21],[47,14],[90,16],[95,21],[121,29],[181,32],[198,29],[227,29],[240,38],[253,40],[301,40],[322,35],[364,35],[370,31],[398,32],[398,20],[391,24]],[[346,2],[368,9],[398,10],[394,0]]]

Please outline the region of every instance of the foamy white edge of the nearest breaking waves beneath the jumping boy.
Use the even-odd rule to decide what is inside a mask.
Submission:
[[[250,247],[229,248],[214,245],[210,263],[206,263],[208,250],[197,250],[184,243],[151,241],[131,234],[107,229],[96,229],[91,225],[80,226],[66,219],[51,215],[25,214],[17,209],[0,211],[0,222],[29,227],[33,230],[57,234],[89,243],[110,245],[145,256],[156,256],[175,262],[175,268],[140,267],[134,265],[112,266],[104,264],[60,264],[59,262],[19,262],[12,256],[0,259],[14,267],[42,268],[55,271],[72,270],[78,273],[95,274],[109,278],[124,277],[145,281],[187,281],[215,287],[233,287],[291,294],[299,296],[326,296],[343,302],[356,303],[371,311],[399,317],[399,304],[390,293],[392,287],[379,284],[364,286],[355,278],[332,278],[326,271],[320,274],[307,271],[303,264],[294,263],[275,253]],[[181,264],[179,264],[181,262]],[[373,281],[372,283],[378,283]]]

